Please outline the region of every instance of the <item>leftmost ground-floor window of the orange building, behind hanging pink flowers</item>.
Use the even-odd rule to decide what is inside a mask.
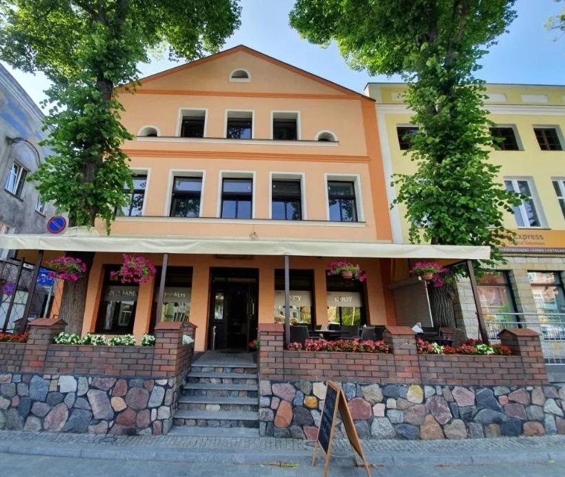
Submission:
[[[110,272],[118,267],[107,267],[104,272],[102,302],[96,325],[97,333],[128,334],[133,331],[138,285],[122,285]]]

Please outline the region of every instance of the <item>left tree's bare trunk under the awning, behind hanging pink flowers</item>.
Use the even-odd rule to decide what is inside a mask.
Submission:
[[[67,252],[67,256],[80,258],[86,264],[86,274],[79,281],[66,281],[64,283],[59,318],[67,323],[67,333],[81,334],[86,304],[86,290],[88,289],[88,276],[95,252]]]

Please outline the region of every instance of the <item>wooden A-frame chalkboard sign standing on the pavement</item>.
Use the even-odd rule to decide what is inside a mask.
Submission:
[[[357,435],[357,429],[355,428],[355,423],[349,412],[349,407],[347,405],[346,397],[339,387],[333,381],[328,381],[326,383],[326,400],[324,400],[324,410],[321,413],[320,425],[318,428],[318,436],[316,438],[316,443],[314,446],[314,454],[312,456],[312,465],[316,463],[316,452],[318,446],[326,454],[326,465],[324,467],[324,477],[328,475],[328,469],[330,465],[330,454],[332,449],[332,440],[335,430],[335,425],[337,424],[337,411],[341,414],[341,421],[344,423],[344,428],[346,430],[347,438],[351,449],[353,449],[353,458],[355,459],[355,465],[357,467],[365,467],[367,475],[370,477],[370,470],[365,458],[363,447],[361,446],[361,441]],[[357,456],[361,457],[361,465],[357,463]]]

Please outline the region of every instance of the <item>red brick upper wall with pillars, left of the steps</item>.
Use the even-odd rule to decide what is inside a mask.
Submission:
[[[62,321],[40,319],[30,324],[27,343],[0,343],[0,372],[91,374],[97,376],[183,376],[190,369],[193,346],[182,344],[193,325],[159,323],[155,346],[56,345]]]

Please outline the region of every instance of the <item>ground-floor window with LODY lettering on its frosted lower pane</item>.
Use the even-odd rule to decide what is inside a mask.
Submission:
[[[366,323],[364,293],[358,281],[328,276],[328,323],[361,326]]]

